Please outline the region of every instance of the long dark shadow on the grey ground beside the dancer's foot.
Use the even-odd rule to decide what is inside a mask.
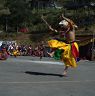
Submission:
[[[30,74],[30,75],[42,75],[42,76],[59,76],[59,77],[64,76],[64,75],[61,75],[61,74],[43,73],[43,72],[31,72],[31,71],[26,71],[25,73]]]

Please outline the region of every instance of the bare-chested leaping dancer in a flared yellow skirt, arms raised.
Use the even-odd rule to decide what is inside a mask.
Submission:
[[[50,56],[54,58],[60,59],[65,63],[65,68],[62,73],[63,76],[67,75],[67,70],[69,67],[77,67],[76,61],[79,57],[79,49],[78,45],[75,42],[75,28],[77,25],[70,19],[64,17],[62,14],[63,20],[59,23],[60,31],[53,29],[45,20],[44,22],[48,25],[49,29],[59,34],[64,34],[63,38],[65,38],[65,42],[59,41],[56,39],[52,39],[48,41],[48,45],[54,49],[52,53],[48,53]]]

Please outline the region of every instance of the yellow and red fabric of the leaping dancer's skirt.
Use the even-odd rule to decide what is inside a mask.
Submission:
[[[79,55],[79,49],[76,42],[66,44],[58,40],[50,40],[48,44],[51,48],[61,49],[64,52],[61,53],[61,60],[66,66],[77,67],[76,59]]]

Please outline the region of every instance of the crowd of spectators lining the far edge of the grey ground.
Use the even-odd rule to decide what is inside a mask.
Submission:
[[[6,46],[1,45],[0,50],[1,53],[2,50],[6,50],[10,56],[37,56],[41,59],[42,57],[48,57],[47,51],[50,49],[43,43],[39,43],[35,47],[32,45],[17,45],[13,43]]]

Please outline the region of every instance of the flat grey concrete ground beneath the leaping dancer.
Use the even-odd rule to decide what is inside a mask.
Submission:
[[[0,96],[95,96],[95,61],[81,60],[67,77],[63,68],[52,58],[0,61]]]

